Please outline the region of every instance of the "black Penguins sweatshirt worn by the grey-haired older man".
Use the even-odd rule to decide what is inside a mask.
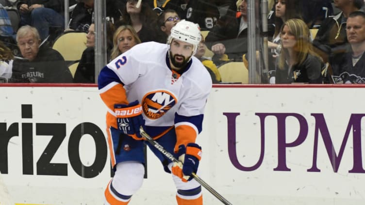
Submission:
[[[72,75],[61,54],[43,45],[32,62],[14,60],[9,82],[67,83],[72,82]]]

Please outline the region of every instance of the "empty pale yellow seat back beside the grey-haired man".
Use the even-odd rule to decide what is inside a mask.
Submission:
[[[83,50],[86,49],[86,33],[64,33],[56,39],[52,48],[61,53],[67,65],[76,63],[80,61]]]

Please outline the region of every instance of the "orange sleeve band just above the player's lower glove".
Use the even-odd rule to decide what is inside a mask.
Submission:
[[[175,127],[176,131],[176,145],[174,150],[179,150],[179,145],[187,145],[190,142],[195,143],[197,139],[197,132],[191,126],[181,125]]]

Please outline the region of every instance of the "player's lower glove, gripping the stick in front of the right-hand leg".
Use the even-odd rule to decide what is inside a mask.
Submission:
[[[186,147],[182,144],[177,152],[180,162],[174,162],[172,173],[180,177],[183,182],[193,179],[192,173],[197,173],[201,159],[201,147],[196,143],[188,143]]]

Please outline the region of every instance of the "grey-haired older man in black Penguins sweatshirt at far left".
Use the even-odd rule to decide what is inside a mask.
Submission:
[[[62,55],[46,45],[36,28],[22,26],[17,42],[24,59],[15,59],[10,82],[72,82],[72,75]]]

